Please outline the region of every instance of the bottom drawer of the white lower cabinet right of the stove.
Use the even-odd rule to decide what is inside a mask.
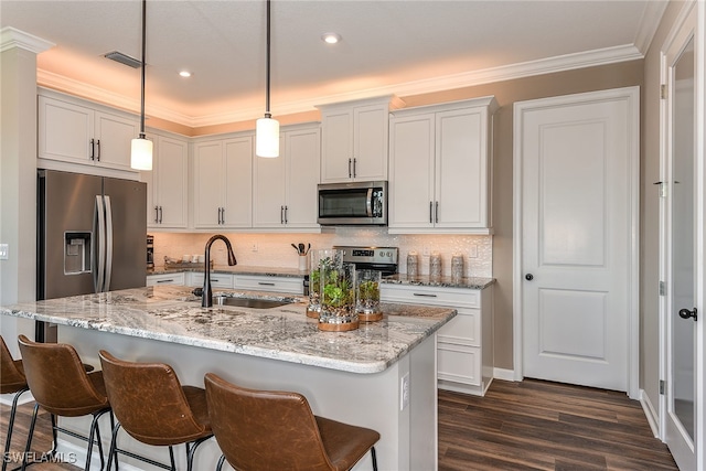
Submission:
[[[481,350],[475,346],[437,344],[437,377],[443,381],[480,386]]]

